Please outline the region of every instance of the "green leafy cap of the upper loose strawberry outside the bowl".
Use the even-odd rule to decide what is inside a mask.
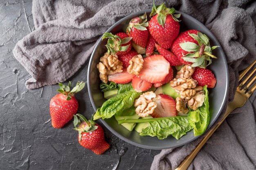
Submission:
[[[70,100],[71,97],[74,96],[74,94],[80,92],[83,89],[83,87],[85,87],[85,83],[83,81],[78,81],[76,83],[76,86],[71,91],[71,81],[68,83],[68,85],[63,85],[63,83],[58,83],[58,85],[60,86],[60,89],[58,89],[57,91],[67,96],[67,100]]]

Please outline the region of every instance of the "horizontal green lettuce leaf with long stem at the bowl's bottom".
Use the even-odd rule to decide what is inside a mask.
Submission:
[[[141,136],[157,136],[158,139],[165,139],[172,135],[176,139],[180,139],[186,132],[193,129],[190,126],[186,116],[173,116],[167,118],[152,118],[152,119],[132,119],[132,120],[118,120],[118,123],[141,123],[147,122],[149,126],[142,129],[139,135]]]

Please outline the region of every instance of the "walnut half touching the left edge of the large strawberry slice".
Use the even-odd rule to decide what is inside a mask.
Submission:
[[[127,72],[133,75],[139,75],[140,70],[143,68],[143,57],[139,55],[135,55],[132,57],[132,59],[129,61],[129,66],[127,68]]]

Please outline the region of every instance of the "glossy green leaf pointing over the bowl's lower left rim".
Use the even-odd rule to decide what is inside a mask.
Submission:
[[[117,96],[104,102],[101,108],[97,109],[93,120],[111,118],[115,114],[121,114],[124,110],[132,107],[134,100],[138,98],[139,95],[141,95],[141,93],[137,93],[134,90],[117,94]]]

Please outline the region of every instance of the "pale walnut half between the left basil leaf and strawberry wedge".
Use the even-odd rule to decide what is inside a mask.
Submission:
[[[157,103],[153,102],[152,100],[155,97],[156,94],[154,92],[146,92],[141,94],[134,102],[134,106],[137,107],[135,112],[140,117],[147,117],[148,115],[152,114],[157,107]]]

